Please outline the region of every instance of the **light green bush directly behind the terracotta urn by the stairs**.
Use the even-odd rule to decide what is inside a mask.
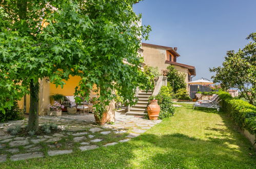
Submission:
[[[158,104],[160,105],[161,111],[159,119],[164,119],[173,116],[174,107],[172,104],[172,91],[167,86],[162,86],[158,95],[155,96]]]

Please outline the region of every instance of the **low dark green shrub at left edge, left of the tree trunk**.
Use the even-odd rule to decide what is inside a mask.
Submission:
[[[17,101],[14,101],[12,107],[10,110],[8,108],[5,108],[5,113],[0,112],[0,122],[5,122],[8,120],[22,120],[24,119],[22,115],[21,109],[18,107]]]

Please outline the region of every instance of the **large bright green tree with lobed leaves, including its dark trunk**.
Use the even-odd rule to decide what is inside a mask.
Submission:
[[[27,130],[37,131],[40,81],[63,87],[70,75],[81,77],[76,96],[99,93],[96,110],[115,98],[112,91],[133,103],[136,87],[149,86],[137,51],[150,28],[139,25],[136,2],[0,0],[0,111],[30,94]]]

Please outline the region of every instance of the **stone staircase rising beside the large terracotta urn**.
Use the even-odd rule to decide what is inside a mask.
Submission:
[[[130,108],[127,115],[145,116],[147,114],[148,98],[152,95],[152,91],[140,91],[137,95],[137,103]]]

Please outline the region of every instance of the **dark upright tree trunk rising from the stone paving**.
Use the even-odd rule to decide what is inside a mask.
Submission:
[[[30,108],[27,131],[38,131],[38,93],[39,93],[38,80],[30,81]]]

